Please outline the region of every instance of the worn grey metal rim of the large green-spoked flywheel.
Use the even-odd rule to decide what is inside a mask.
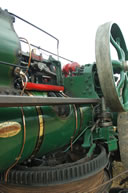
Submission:
[[[113,30],[114,29],[114,30]],[[117,31],[117,36],[120,36],[121,49],[125,53],[125,60],[127,60],[127,48],[122,35],[122,32],[117,24],[108,22],[101,25],[96,33],[95,39],[95,54],[96,66],[98,71],[99,82],[106,101],[106,104],[113,112],[127,111],[124,104],[121,102],[113,76],[113,66],[110,53],[110,36],[113,31]],[[114,33],[114,36],[116,33]],[[123,72],[123,71],[122,71]],[[123,72],[124,73],[124,72]]]

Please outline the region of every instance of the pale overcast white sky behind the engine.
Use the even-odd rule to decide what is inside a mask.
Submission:
[[[80,64],[95,61],[96,30],[105,22],[119,24],[128,45],[127,0],[0,0],[0,7],[56,36],[60,55]],[[16,31],[31,43],[56,51],[55,40],[27,31],[26,25],[16,24]]]

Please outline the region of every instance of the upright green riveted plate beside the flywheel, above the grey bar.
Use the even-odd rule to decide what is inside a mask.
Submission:
[[[98,98],[94,87],[93,64],[85,65],[81,75],[64,78],[64,88],[72,97]]]

